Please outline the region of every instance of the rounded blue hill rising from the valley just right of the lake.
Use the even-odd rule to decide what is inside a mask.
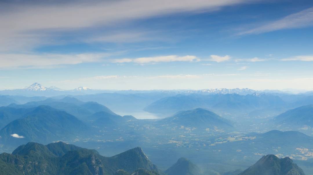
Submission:
[[[160,125],[176,125],[197,128],[213,128],[214,126],[221,128],[233,127],[230,124],[230,121],[202,108],[181,111],[174,116],[162,119],[157,123]]]

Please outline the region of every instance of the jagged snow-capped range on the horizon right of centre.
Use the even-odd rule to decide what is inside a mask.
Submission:
[[[255,90],[249,89],[249,88],[235,88],[235,89],[226,89],[226,88],[216,88],[216,89],[202,89],[202,90],[188,90],[183,93],[201,93],[201,94],[240,94],[240,95],[246,95],[246,94],[253,94],[256,92]]]

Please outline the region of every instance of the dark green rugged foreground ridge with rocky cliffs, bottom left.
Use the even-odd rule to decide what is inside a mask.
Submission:
[[[62,142],[48,145],[30,142],[12,154],[0,154],[0,172],[10,175],[160,175],[140,147],[104,157],[96,150]]]

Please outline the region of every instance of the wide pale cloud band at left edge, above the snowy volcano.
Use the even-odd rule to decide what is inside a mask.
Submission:
[[[100,62],[111,54],[0,54],[0,68],[47,68],[64,64]]]

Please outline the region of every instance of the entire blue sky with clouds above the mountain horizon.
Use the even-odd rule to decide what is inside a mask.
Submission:
[[[0,90],[313,89],[313,1],[0,2]]]

